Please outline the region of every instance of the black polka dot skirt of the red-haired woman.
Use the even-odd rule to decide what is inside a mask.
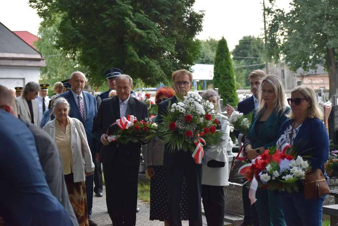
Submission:
[[[150,220],[168,220],[168,197],[165,178],[165,169],[163,166],[154,167],[155,175],[150,180]],[[181,195],[181,220],[189,220],[189,205],[185,178],[183,181]]]

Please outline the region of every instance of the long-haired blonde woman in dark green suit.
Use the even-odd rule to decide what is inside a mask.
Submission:
[[[279,130],[290,111],[286,105],[282,80],[278,76],[268,75],[262,79],[259,96],[259,106],[254,111],[245,140],[244,149],[249,160],[276,146]],[[255,207],[260,226],[285,226],[279,194],[259,187],[256,199]]]

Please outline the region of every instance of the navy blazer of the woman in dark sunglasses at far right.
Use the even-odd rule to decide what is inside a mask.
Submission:
[[[283,123],[278,139],[293,121],[293,119],[289,119]],[[329,134],[324,123],[318,118],[306,118],[299,128],[293,144],[298,142],[302,146],[299,149],[299,155],[312,156],[311,159],[308,159],[311,161],[312,171],[322,169],[324,163],[329,158]]]

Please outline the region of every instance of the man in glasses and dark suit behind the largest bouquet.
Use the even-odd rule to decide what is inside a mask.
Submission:
[[[173,88],[178,96],[186,96],[192,87],[192,74],[187,70],[175,71],[172,74]],[[159,104],[158,122],[167,115],[167,107],[178,102],[176,96]],[[185,176],[189,203],[189,225],[202,226],[201,189],[202,164],[207,164],[203,155],[202,164],[196,164],[192,153],[187,150],[175,149],[169,152],[168,144],[164,148],[163,166],[166,171],[166,185],[168,191],[168,211],[170,226],[182,226],[180,201],[183,177]]]

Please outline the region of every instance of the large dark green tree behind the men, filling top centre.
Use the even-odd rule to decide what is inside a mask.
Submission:
[[[88,68],[102,84],[117,67],[145,85],[168,83],[173,71],[190,69],[198,58],[203,12],[195,0],[30,0],[46,21],[61,14],[55,45]]]

